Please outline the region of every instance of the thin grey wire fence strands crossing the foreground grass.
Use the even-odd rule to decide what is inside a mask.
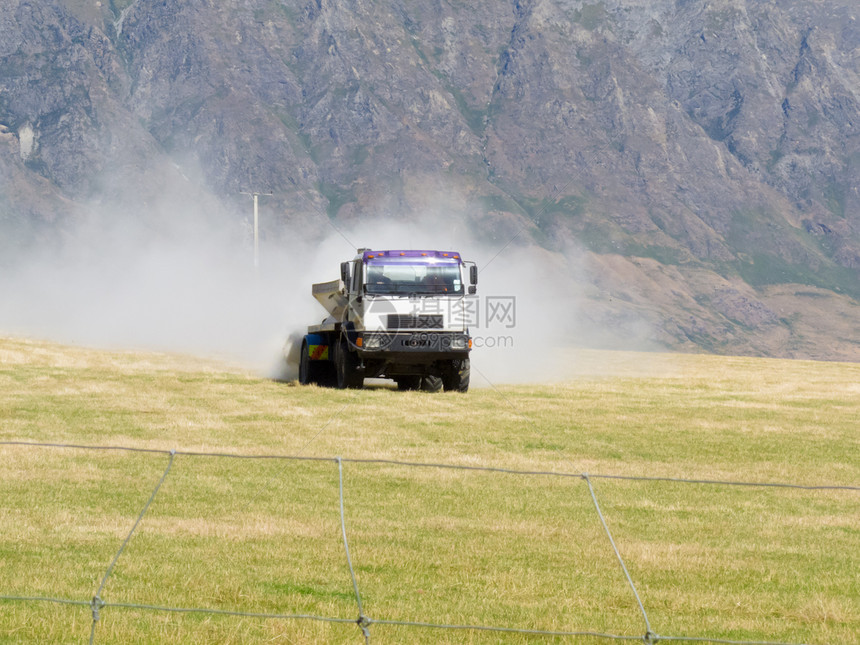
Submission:
[[[243,454],[233,454],[233,453],[221,453],[221,452],[200,452],[200,451],[187,451],[187,450],[164,450],[164,449],[155,449],[155,448],[134,448],[134,447],[126,447],[126,446],[98,446],[98,445],[82,445],[82,444],[67,444],[67,443],[41,443],[41,442],[29,442],[29,441],[0,441],[0,445],[2,446],[18,446],[18,447],[29,447],[29,448],[60,448],[60,449],[75,449],[75,450],[84,450],[84,451],[121,451],[121,452],[129,452],[129,453],[144,453],[144,454],[152,454],[152,455],[162,455],[168,458],[167,465],[156,483],[155,487],[152,490],[149,498],[146,503],[141,508],[137,519],[114,555],[113,559],[110,561],[107,569],[105,570],[105,574],[101,579],[101,582],[96,589],[93,597],[89,600],[81,600],[81,599],[70,599],[70,598],[53,598],[46,596],[16,596],[16,595],[0,595],[0,600],[8,601],[8,602],[22,602],[22,603],[54,603],[60,605],[74,605],[74,606],[82,606],[89,607],[92,614],[92,624],[90,628],[90,638],[89,643],[93,645],[96,642],[97,636],[97,626],[99,620],[101,618],[101,612],[104,609],[136,609],[142,611],[152,611],[152,612],[167,612],[167,613],[181,613],[181,614],[206,614],[211,616],[235,616],[235,617],[244,617],[244,618],[257,618],[257,619],[282,619],[282,620],[310,620],[310,621],[319,621],[325,623],[339,623],[339,624],[354,624],[358,627],[361,632],[362,637],[366,644],[371,642],[371,628],[373,625],[381,625],[381,626],[398,626],[398,627],[413,627],[413,628],[424,628],[424,629],[435,629],[435,630],[469,630],[469,631],[481,631],[481,632],[496,632],[499,634],[522,634],[522,635],[530,635],[530,636],[545,636],[545,637],[592,637],[595,639],[605,639],[605,640],[613,640],[613,641],[637,641],[641,643],[645,643],[646,645],[655,645],[659,642],[690,642],[690,643],[717,643],[724,645],[802,645],[798,643],[786,643],[786,642],[778,642],[778,641],[761,641],[761,640],[726,640],[719,638],[710,638],[710,637],[702,637],[702,636],[684,636],[684,635],[664,635],[658,634],[654,631],[651,626],[651,622],[648,618],[647,611],[645,606],[639,596],[636,585],[632,576],[630,575],[627,565],[625,564],[624,558],[620,550],[618,549],[615,540],[612,536],[612,532],[609,529],[609,526],[604,517],[603,511],[600,506],[600,502],[597,497],[597,493],[595,491],[595,487],[593,485],[593,480],[603,479],[603,480],[622,480],[622,481],[641,481],[641,482],[673,482],[673,483],[681,483],[681,484],[700,484],[700,485],[712,485],[712,486],[744,486],[744,487],[760,487],[760,488],[786,488],[786,489],[798,489],[798,490],[806,490],[806,491],[825,491],[825,490],[839,490],[839,491],[850,491],[860,493],[860,486],[846,486],[846,485],[808,485],[808,484],[800,484],[800,483],[790,483],[790,482],[751,482],[751,481],[730,481],[730,480],[715,480],[715,479],[684,479],[684,478],[676,478],[676,477],[648,477],[648,476],[633,476],[633,475],[608,475],[608,474],[594,474],[594,473],[568,473],[568,472],[556,472],[556,471],[541,471],[541,470],[517,470],[517,469],[509,469],[509,468],[498,468],[493,466],[474,466],[474,465],[459,465],[459,464],[444,464],[444,463],[429,463],[429,462],[414,462],[414,461],[401,461],[401,460],[392,460],[392,459],[362,459],[362,458],[343,458],[343,457],[310,457],[310,456],[294,456],[294,455],[243,455]],[[158,495],[158,492],[167,480],[171,468],[173,467],[174,460],[177,456],[187,456],[187,457],[217,457],[223,459],[242,459],[242,460],[285,460],[285,461],[306,461],[306,462],[327,462],[334,463],[337,465],[338,470],[338,494],[339,494],[339,513],[340,513],[340,527],[341,527],[341,536],[343,540],[343,549],[346,559],[346,565],[349,569],[350,578],[352,581],[353,593],[355,596],[356,607],[358,610],[357,618],[340,618],[340,617],[332,617],[332,616],[318,616],[312,614],[282,614],[282,613],[259,613],[259,612],[246,612],[246,611],[231,611],[225,609],[213,609],[213,608],[195,608],[195,607],[170,607],[170,606],[159,606],[159,605],[149,605],[149,604],[136,604],[136,603],[125,603],[125,602],[105,602],[101,598],[102,591],[110,578],[115,565],[118,560],[122,556],[126,546],[131,541],[135,532],[138,529],[138,526],[143,521],[146,516],[147,511],[149,510],[151,504],[155,500]],[[390,465],[390,466],[402,466],[406,468],[436,468],[436,469],[445,469],[445,470],[461,470],[461,471],[472,471],[472,472],[485,472],[485,473],[497,473],[497,474],[506,474],[506,475],[515,475],[515,476],[523,476],[523,477],[559,477],[559,478],[569,478],[569,479],[579,479],[583,480],[587,486],[588,491],[594,506],[595,513],[597,514],[600,525],[602,526],[603,532],[606,535],[606,538],[612,548],[612,551],[615,555],[615,558],[618,561],[618,564],[624,574],[624,578],[626,580],[627,586],[630,588],[630,592],[636,600],[636,604],[638,606],[639,612],[642,618],[643,632],[639,635],[624,635],[624,634],[611,634],[611,633],[603,633],[598,631],[552,631],[552,630],[541,630],[541,629],[522,629],[516,627],[506,627],[506,626],[492,626],[492,625],[455,625],[455,624],[444,624],[444,623],[434,623],[434,622],[418,622],[418,621],[408,621],[408,620],[387,620],[384,618],[371,618],[367,616],[364,612],[364,607],[362,605],[361,594],[359,591],[358,581],[355,575],[355,570],[353,567],[352,557],[350,555],[349,550],[349,540],[348,540],[348,531],[346,525],[346,514],[344,512],[344,464],[379,464],[379,465]]]

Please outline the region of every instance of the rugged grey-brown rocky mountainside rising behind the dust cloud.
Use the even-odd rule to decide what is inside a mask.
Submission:
[[[3,5],[16,235],[198,176],[272,193],[272,235],[457,194],[499,248],[582,249],[598,325],[860,360],[854,0]]]

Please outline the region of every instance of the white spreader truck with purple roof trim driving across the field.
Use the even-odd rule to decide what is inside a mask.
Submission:
[[[340,278],[312,286],[328,316],[301,340],[299,382],[468,391],[477,283],[456,251],[358,249]]]

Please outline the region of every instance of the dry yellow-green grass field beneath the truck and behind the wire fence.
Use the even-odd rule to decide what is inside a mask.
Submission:
[[[591,475],[651,628],[860,643],[860,365],[571,352],[466,395],[298,387],[194,358],[0,339],[0,441]],[[480,369],[480,365],[476,366]],[[492,374],[484,376],[492,380]],[[473,377],[476,382],[481,379]],[[89,602],[161,453],[0,444],[0,596]],[[343,463],[371,619],[640,638],[581,477]],[[106,580],[96,643],[360,643],[328,461],[178,454]],[[85,605],[0,600],[0,643],[87,642]],[[614,642],[371,624],[374,643]]]

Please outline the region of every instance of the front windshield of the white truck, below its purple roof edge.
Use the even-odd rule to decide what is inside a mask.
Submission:
[[[373,294],[462,294],[459,264],[368,264],[365,291]]]

